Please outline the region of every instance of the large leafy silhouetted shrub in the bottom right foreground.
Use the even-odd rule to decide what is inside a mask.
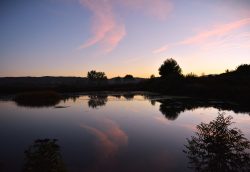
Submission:
[[[250,142],[237,128],[229,128],[232,117],[219,114],[208,124],[197,125],[197,132],[185,145],[190,168],[196,171],[250,171]]]

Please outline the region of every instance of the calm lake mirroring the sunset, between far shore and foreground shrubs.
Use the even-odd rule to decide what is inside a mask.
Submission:
[[[187,138],[219,113],[232,116],[232,127],[250,139],[250,111],[232,102],[98,93],[68,96],[51,107],[2,100],[0,109],[0,171],[6,172],[24,169],[27,150],[53,139],[67,171],[193,171],[183,152]]]

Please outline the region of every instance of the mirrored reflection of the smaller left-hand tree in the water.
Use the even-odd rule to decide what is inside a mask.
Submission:
[[[108,101],[107,95],[90,95],[88,106],[90,108],[97,108],[98,106],[105,106]]]

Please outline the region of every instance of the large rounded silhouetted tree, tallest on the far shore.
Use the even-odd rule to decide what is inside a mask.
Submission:
[[[178,63],[170,58],[164,61],[164,63],[159,68],[159,74],[162,78],[167,78],[169,76],[181,76],[181,68]]]

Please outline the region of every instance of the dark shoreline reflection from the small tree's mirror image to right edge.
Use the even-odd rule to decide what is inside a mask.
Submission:
[[[121,99],[124,97],[126,100],[134,100],[135,95],[143,95],[144,99],[149,100],[152,106],[158,102],[159,111],[168,119],[176,120],[180,113],[186,110],[195,110],[197,108],[214,107],[219,110],[232,110],[235,113],[248,113],[250,115],[250,106],[242,106],[232,102],[201,100],[193,98],[178,98],[166,97],[156,94],[143,94],[143,93],[120,93],[110,94],[112,97]],[[103,107],[109,100],[109,94],[89,95],[88,106],[90,108]],[[71,98],[68,96],[68,99]],[[76,97],[74,97],[76,98]]]

